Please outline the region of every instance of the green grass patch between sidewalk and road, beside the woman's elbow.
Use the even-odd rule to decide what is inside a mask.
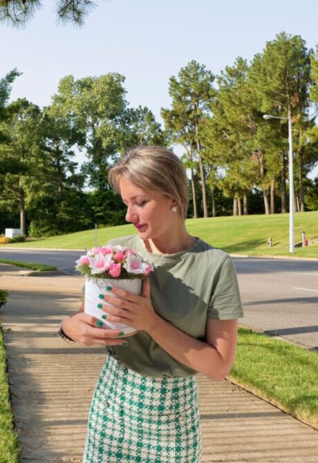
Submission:
[[[245,328],[230,380],[318,428],[318,355]]]

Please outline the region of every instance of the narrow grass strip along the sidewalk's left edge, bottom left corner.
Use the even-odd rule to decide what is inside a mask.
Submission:
[[[19,441],[9,398],[6,350],[0,325],[0,461],[19,463]]]

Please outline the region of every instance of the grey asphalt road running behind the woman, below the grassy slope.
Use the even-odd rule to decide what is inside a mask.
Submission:
[[[0,249],[0,258],[55,265],[75,275],[83,252]],[[233,257],[244,308],[241,323],[318,351],[318,261]],[[82,278],[79,276],[79,278]]]

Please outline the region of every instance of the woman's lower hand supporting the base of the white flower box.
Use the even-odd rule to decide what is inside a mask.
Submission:
[[[84,344],[84,346],[127,346],[122,336],[122,330],[103,330],[97,328],[97,319],[95,316],[79,312],[70,318],[64,320],[62,329],[64,333],[73,339]]]

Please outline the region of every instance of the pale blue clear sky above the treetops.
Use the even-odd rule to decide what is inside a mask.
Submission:
[[[169,77],[191,59],[218,74],[238,56],[250,62],[282,31],[301,35],[308,48],[318,45],[316,0],[95,1],[82,28],[59,25],[53,0],[42,1],[26,28],[0,24],[0,77],[12,68],[23,73],[10,100],[46,106],[66,75],[117,72],[126,78],[130,106],[147,106],[162,122]]]

